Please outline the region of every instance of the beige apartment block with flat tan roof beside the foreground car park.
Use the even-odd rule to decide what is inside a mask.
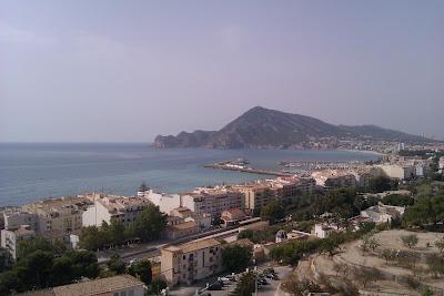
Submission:
[[[190,285],[222,272],[221,243],[215,238],[198,239],[161,249],[161,273],[171,285]]]

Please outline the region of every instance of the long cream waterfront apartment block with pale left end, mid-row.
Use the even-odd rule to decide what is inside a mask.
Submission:
[[[182,206],[190,208],[195,215],[209,214],[211,218],[215,218],[228,208],[242,207],[243,194],[222,187],[199,187],[181,197]]]

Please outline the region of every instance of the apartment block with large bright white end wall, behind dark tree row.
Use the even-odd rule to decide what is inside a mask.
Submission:
[[[94,200],[93,205],[82,214],[83,226],[101,226],[111,220],[121,221],[128,225],[135,221],[150,202],[143,197],[121,195],[104,195]]]

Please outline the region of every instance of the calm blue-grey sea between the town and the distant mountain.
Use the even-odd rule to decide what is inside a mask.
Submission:
[[[49,196],[101,191],[134,194],[145,182],[163,192],[245,182],[263,176],[204,169],[203,164],[244,157],[253,167],[276,169],[279,161],[374,160],[346,151],[155,150],[148,144],[0,144],[0,206]]]

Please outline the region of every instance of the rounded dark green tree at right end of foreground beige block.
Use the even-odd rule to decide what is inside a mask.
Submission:
[[[241,272],[249,266],[253,252],[250,247],[232,245],[222,251],[222,264],[230,272]]]

